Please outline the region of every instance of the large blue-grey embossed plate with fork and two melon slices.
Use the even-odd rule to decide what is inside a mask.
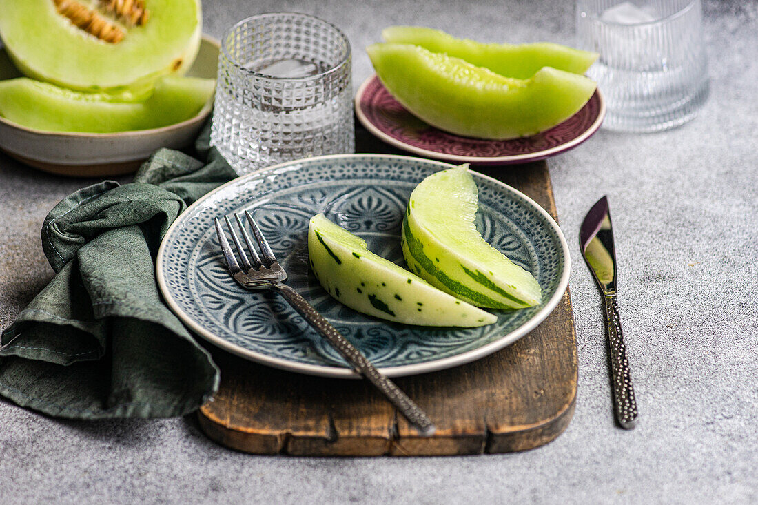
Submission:
[[[568,286],[568,246],[550,215],[527,196],[474,174],[477,227],[487,242],[531,271],[543,303],[496,311],[482,328],[428,328],[359,314],[331,298],[308,268],[308,223],[324,212],[363,237],[371,251],[402,262],[400,224],[413,188],[443,162],[390,155],[334,155],[276,165],[208,193],[174,221],[158,251],[158,285],[196,334],[255,362],[293,372],[354,378],[356,373],[276,293],[243,290],[231,278],[213,218],[248,209],[290,275],[287,281],[390,376],[471,362],[536,327]]]

